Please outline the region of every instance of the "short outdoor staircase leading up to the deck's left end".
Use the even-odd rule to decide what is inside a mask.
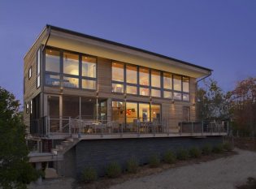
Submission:
[[[74,147],[77,143],[79,143],[78,138],[67,138],[61,144],[56,145],[56,148],[52,148],[51,152],[55,155],[58,156],[59,158],[62,158],[65,152],[70,150],[72,147]]]

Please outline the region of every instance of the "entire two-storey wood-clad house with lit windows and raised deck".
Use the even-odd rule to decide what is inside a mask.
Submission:
[[[219,143],[227,128],[197,120],[197,81],[211,70],[50,25],[24,57],[31,162],[59,175],[131,156]],[[39,162],[39,163],[38,163]]]

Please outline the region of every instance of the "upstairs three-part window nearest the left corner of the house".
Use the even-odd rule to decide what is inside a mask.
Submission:
[[[63,49],[46,49],[46,85],[97,88],[97,59]]]

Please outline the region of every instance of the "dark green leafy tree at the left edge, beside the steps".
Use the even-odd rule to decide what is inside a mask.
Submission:
[[[25,127],[19,114],[19,101],[0,87],[0,187],[27,188],[40,173],[28,163]]]

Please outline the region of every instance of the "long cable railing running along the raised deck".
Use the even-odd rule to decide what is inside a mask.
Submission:
[[[127,117],[116,120],[87,119],[71,117],[44,117],[33,120],[32,135],[93,135],[123,133],[176,133],[176,134],[209,134],[227,133],[228,123],[223,122],[178,122],[172,119]]]

